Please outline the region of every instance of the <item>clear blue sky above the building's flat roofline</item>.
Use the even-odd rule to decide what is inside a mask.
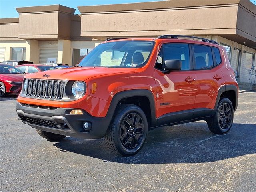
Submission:
[[[75,14],[80,14],[77,6],[120,4],[134,2],[149,2],[157,0],[0,0],[0,18],[18,17],[15,7],[29,7],[41,5],[61,4],[76,9]],[[250,0],[256,4],[256,0]]]

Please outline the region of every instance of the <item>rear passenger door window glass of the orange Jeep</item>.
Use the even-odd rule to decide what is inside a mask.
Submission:
[[[213,67],[211,47],[194,45],[194,55],[196,61],[195,69],[208,69]]]

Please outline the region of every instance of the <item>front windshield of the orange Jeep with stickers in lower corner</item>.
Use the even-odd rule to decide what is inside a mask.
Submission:
[[[116,41],[102,43],[85,56],[78,66],[134,68],[146,64],[152,41]]]

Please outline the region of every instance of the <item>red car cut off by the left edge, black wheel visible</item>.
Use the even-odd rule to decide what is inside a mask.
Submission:
[[[0,64],[0,97],[9,93],[19,93],[25,74],[18,68]]]

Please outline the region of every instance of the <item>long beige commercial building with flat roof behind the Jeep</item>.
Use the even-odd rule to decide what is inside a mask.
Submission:
[[[19,18],[0,19],[0,61],[77,64],[107,38],[199,36],[226,48],[239,82],[255,64],[256,6],[249,0],[158,2],[16,8]]]

